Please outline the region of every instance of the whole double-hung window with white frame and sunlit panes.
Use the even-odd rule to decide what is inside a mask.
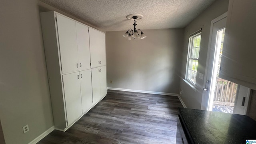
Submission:
[[[192,34],[189,38],[186,80],[192,82],[192,84],[196,84],[200,42],[201,30]]]

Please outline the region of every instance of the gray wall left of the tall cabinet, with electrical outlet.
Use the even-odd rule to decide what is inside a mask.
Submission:
[[[1,0],[0,118],[6,144],[54,125],[36,0]],[[29,125],[23,134],[22,127]]]

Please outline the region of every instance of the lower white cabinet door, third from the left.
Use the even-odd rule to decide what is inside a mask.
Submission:
[[[102,97],[100,94],[100,69],[92,68],[92,97],[93,104],[96,104]]]

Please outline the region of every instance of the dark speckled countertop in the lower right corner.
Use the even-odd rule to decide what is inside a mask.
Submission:
[[[189,108],[178,109],[192,144],[245,144],[256,140],[256,121],[249,116]]]

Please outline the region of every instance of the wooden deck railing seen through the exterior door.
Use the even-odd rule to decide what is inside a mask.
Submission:
[[[216,81],[213,104],[234,106],[237,84],[221,78],[217,78]]]

